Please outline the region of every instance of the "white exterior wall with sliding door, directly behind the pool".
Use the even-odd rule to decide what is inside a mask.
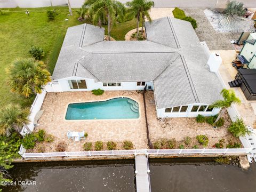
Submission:
[[[94,82],[94,79],[85,79],[87,89],[70,89],[68,80],[85,79],[79,77],[69,77],[53,81],[45,86],[47,92],[62,92],[62,91],[91,91],[94,89],[102,89],[105,91],[118,90],[143,90],[145,86],[137,86],[137,82],[121,82],[121,86],[103,86],[102,82]],[[111,83],[111,82],[109,82]],[[119,82],[118,82],[119,83]],[[153,89],[153,82],[146,82],[147,87],[151,86]]]

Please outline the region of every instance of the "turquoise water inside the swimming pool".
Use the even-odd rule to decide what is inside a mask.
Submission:
[[[68,105],[65,118],[67,120],[139,118],[139,105],[129,98],[71,103]]]

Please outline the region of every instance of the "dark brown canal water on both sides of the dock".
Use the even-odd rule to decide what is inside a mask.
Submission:
[[[256,164],[244,171],[208,158],[150,159],[153,192],[256,191]],[[129,191],[135,192],[134,161],[76,161],[19,163],[13,181],[36,181],[35,186],[9,186],[3,191]]]

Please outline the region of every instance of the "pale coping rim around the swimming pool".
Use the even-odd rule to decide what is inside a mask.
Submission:
[[[68,106],[70,104],[75,104],[75,103],[89,103],[89,102],[100,102],[100,101],[108,101],[108,100],[111,100],[111,99],[118,99],[118,98],[127,98],[127,99],[131,99],[131,100],[134,100],[138,103],[139,105],[139,118],[125,118],[125,119],[70,119],[70,120],[67,120],[65,117],[66,117],[66,114],[67,114],[67,110],[68,110]],[[97,101],[79,101],[79,102],[68,102],[66,107],[65,107],[65,111],[66,111],[66,114],[64,115],[63,119],[64,121],[67,121],[67,122],[81,122],[81,121],[127,121],[127,120],[140,120],[141,119],[141,103],[137,100],[137,99],[133,99],[133,98],[130,98],[130,97],[112,97],[112,98],[108,98],[108,99],[105,99],[105,100],[97,100]]]

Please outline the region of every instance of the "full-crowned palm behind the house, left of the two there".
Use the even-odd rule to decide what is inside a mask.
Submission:
[[[111,26],[115,25],[116,18],[124,19],[125,7],[122,3],[115,0],[97,0],[89,9],[93,14],[93,24],[96,25],[100,18],[107,18],[108,22],[108,40],[110,41]]]

